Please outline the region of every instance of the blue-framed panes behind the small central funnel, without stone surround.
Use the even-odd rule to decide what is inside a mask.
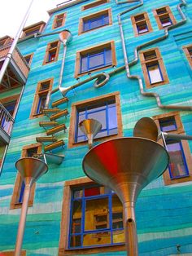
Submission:
[[[76,109],[76,132],[75,142],[87,140],[85,135],[79,129],[79,123],[82,120],[93,118],[101,122],[102,130],[98,132],[95,138],[117,135],[117,117],[115,99],[106,100],[102,103],[86,105],[83,108]]]

